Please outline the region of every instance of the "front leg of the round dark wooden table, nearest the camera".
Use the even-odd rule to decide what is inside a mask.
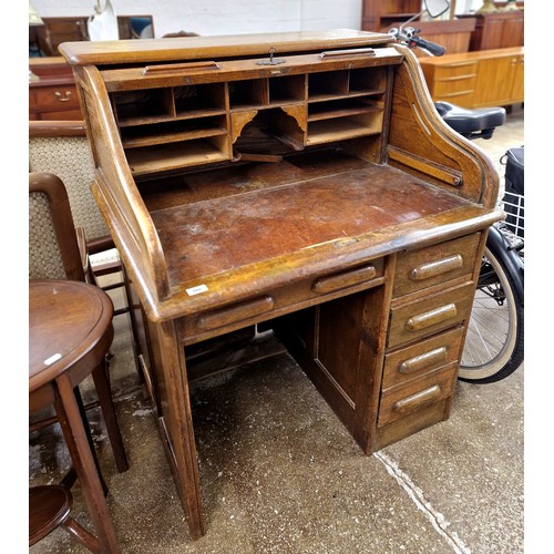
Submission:
[[[101,552],[119,554],[117,537],[102,490],[73,387],[66,375],[57,380],[54,407],[68,444],[68,450],[81,483],[89,515],[98,533]]]

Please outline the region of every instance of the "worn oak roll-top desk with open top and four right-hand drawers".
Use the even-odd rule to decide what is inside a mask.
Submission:
[[[60,51],[193,538],[195,345],[274,329],[368,454],[449,417],[502,214],[494,167],[443,124],[410,51],[348,30]]]

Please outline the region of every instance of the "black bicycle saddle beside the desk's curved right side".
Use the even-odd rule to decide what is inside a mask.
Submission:
[[[466,138],[490,138],[506,121],[503,107],[466,110],[450,102],[435,102],[434,106],[444,122]]]

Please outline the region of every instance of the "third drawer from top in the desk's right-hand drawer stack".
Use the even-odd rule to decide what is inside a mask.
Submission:
[[[383,393],[429,371],[456,362],[462,350],[462,337],[463,328],[458,327],[438,337],[388,353],[384,357],[381,384]]]

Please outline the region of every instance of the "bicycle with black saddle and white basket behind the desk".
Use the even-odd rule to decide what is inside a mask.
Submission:
[[[419,37],[418,29],[404,25],[389,33],[430,55],[444,53],[440,44]],[[434,105],[450,127],[472,141],[491,138],[505,122],[503,107],[466,110],[448,102]],[[500,207],[506,219],[489,229],[459,370],[460,380],[476,384],[505,379],[524,359],[523,147],[510,148],[504,157],[506,186]]]

